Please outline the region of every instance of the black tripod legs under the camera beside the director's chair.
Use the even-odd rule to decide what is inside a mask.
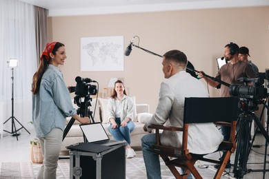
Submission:
[[[255,108],[255,105],[253,106],[251,104],[252,101],[246,102],[245,107],[243,107],[243,113],[240,114],[239,120],[237,122],[238,123],[237,152],[235,154],[235,164],[234,164],[233,173],[235,174],[235,178],[243,178],[243,176],[247,172],[261,172],[262,171],[263,178],[264,178],[265,172],[269,171],[269,169],[266,169],[266,153],[267,153],[266,151],[267,151],[267,146],[269,143],[269,136],[268,136],[269,123],[267,121],[267,127],[265,130],[259,118],[254,114],[253,110],[248,107],[249,103],[250,103],[250,107]],[[262,104],[263,104],[263,110],[264,110],[264,107],[268,109],[268,105],[266,105],[266,103],[262,102]],[[264,162],[263,162],[263,169],[247,169],[248,156],[250,154],[250,150],[255,139],[255,136],[254,136],[252,138],[252,143],[250,143],[250,138],[251,138],[250,130],[251,130],[251,125],[252,125],[253,120],[255,124],[257,125],[257,129],[259,129],[261,131],[261,134],[263,134],[264,138],[266,138],[266,149],[265,149],[265,156],[264,156]],[[255,135],[256,135],[257,129],[255,131]]]

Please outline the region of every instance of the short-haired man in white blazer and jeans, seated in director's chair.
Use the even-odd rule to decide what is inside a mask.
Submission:
[[[166,125],[183,127],[183,110],[185,97],[208,97],[206,87],[197,78],[186,72],[187,56],[179,50],[171,50],[163,55],[163,74],[166,78],[161,83],[159,103],[155,114],[144,126]],[[197,104],[206,105],[206,104]],[[221,132],[213,123],[189,125],[188,148],[194,154],[208,154],[217,150],[223,140]],[[172,147],[181,146],[182,132],[163,131],[161,143]],[[161,178],[159,156],[152,150],[156,143],[155,134],[147,134],[141,138],[143,159],[148,178]],[[191,175],[188,176],[191,178]]]

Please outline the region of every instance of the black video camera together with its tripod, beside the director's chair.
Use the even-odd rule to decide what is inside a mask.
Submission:
[[[263,83],[265,80],[269,82],[269,70],[266,70],[265,73],[258,73],[256,78],[238,78],[237,80],[245,85],[230,85],[229,88],[231,96],[243,98],[240,102],[242,113],[239,115],[239,119],[237,121],[237,153],[235,155],[233,173],[235,173],[235,178],[243,178],[247,172],[269,171],[266,170],[265,167],[263,170],[247,169],[248,156],[255,140],[257,129],[261,131],[264,138],[266,138],[267,143],[269,143],[268,127],[266,131],[261,124],[261,117],[259,119],[254,113],[255,110],[259,109],[258,104],[263,104],[262,113],[265,107],[268,109],[268,105],[266,105],[266,100],[268,100],[268,92]],[[248,85],[248,83],[252,83],[252,85]],[[269,84],[267,87],[269,87]],[[252,120],[257,125],[255,135],[253,137],[250,136]],[[269,125],[269,123],[267,125]],[[250,143],[251,138],[252,142]],[[239,151],[241,151],[240,158],[243,158],[241,163],[239,163]],[[264,161],[266,161],[266,155],[264,157]]]

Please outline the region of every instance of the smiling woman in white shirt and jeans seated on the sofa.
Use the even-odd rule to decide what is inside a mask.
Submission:
[[[132,122],[135,106],[130,97],[126,95],[123,82],[118,80],[114,83],[113,93],[108,101],[108,127],[115,140],[126,141],[127,158],[134,157],[135,151],[130,147],[130,133],[135,128]]]

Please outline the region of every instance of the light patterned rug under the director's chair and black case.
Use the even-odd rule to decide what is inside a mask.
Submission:
[[[126,159],[126,179],[145,179],[146,169],[143,162],[141,151],[136,151],[137,156]],[[161,162],[161,177],[163,179],[175,178],[168,167]],[[216,172],[213,165],[208,165],[197,161],[197,170],[201,173],[202,178],[213,178]],[[2,162],[0,163],[0,179],[31,179],[37,176],[37,172],[41,167],[40,164],[32,164],[32,162]],[[57,178],[69,178],[70,165],[69,159],[61,159],[58,162]],[[224,173],[225,174],[225,173]],[[232,178],[228,174],[222,178]]]

